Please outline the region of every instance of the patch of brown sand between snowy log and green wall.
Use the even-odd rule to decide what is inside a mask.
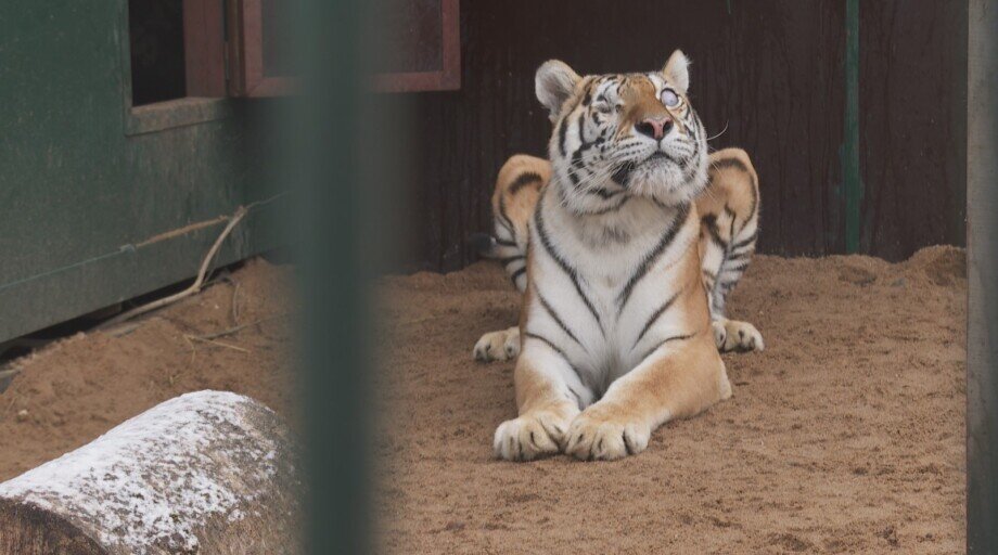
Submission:
[[[188,391],[236,391],[294,416],[289,270],[253,260],[230,280],[137,324],[14,361],[21,372],[0,395],[0,481]],[[242,324],[252,325],[204,338]]]

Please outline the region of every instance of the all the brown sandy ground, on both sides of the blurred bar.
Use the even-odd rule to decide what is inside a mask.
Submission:
[[[962,553],[963,274],[952,248],[901,264],[757,257],[731,310],[767,349],[725,357],[731,400],[636,457],[525,464],[491,456],[515,412],[512,363],[471,357],[516,320],[500,269],[387,279],[380,541],[405,554]],[[16,361],[0,480],[185,391],[234,390],[294,417],[289,270],[252,261],[231,279]],[[204,339],[240,324],[253,325]]]

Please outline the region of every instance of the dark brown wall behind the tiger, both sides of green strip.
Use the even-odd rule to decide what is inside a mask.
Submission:
[[[534,72],[580,74],[692,59],[691,100],[716,149],[760,176],[760,249],[843,253],[846,0],[464,0],[462,87],[401,95],[409,111],[408,269],[453,270],[489,229],[511,154],[543,155],[550,124]],[[861,248],[892,259],[962,243],[965,0],[861,2]]]

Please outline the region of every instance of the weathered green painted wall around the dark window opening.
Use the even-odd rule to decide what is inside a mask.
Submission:
[[[0,340],[193,275],[223,222],[146,242],[276,194],[273,106],[133,115],[126,10],[0,2]],[[276,246],[279,204],[255,210],[221,261]]]

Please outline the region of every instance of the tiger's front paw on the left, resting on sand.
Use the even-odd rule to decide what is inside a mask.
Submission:
[[[506,421],[496,428],[492,449],[507,461],[533,461],[561,451],[570,418],[554,412],[535,412]]]

